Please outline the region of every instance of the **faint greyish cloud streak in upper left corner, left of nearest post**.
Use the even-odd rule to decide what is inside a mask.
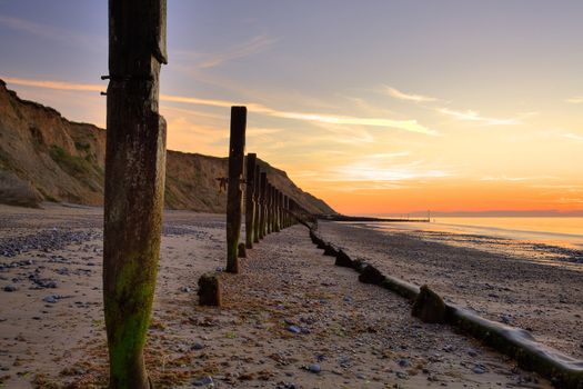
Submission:
[[[3,14],[0,14],[0,26],[38,38],[58,41],[67,46],[74,44],[84,49],[104,49],[107,42],[105,38],[88,36],[79,31],[69,31],[58,27]]]

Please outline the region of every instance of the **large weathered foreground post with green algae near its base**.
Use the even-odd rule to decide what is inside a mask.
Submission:
[[[109,388],[150,388],[143,347],[155,289],[165,174],[159,114],[165,0],[109,1],[103,302]]]

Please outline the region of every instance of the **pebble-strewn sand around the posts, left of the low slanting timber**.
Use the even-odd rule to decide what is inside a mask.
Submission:
[[[217,388],[550,387],[448,326],[411,318],[405,300],[334,267],[301,226],[270,235],[240,275],[223,276],[223,307],[199,307],[198,278],[224,265],[223,218],[165,213],[145,356],[158,387],[208,377]],[[0,206],[0,380],[102,387],[101,209]],[[322,231],[341,235],[332,223]],[[353,253],[365,253],[363,239]]]

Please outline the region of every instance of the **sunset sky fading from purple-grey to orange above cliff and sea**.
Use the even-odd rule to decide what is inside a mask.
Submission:
[[[0,0],[0,78],[105,123],[107,1]],[[172,150],[247,151],[336,211],[583,209],[583,2],[168,0]],[[566,213],[565,213],[566,215]]]

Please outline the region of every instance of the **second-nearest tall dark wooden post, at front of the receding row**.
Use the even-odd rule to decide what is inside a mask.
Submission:
[[[241,233],[241,181],[245,156],[247,108],[231,107],[229,142],[229,186],[227,188],[227,271],[239,272],[239,237]]]

